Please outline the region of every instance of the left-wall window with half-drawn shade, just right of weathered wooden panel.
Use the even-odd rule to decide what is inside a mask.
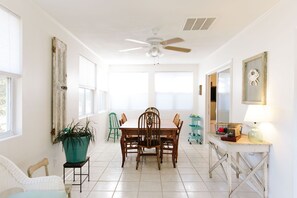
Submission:
[[[79,57],[79,116],[94,113],[96,90],[96,64]]]

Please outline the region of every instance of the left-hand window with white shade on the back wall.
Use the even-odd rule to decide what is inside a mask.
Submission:
[[[148,106],[148,73],[111,73],[109,81],[112,110],[143,110]]]

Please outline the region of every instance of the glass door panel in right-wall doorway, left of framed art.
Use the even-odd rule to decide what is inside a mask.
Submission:
[[[217,72],[217,122],[229,122],[231,104],[230,68]]]

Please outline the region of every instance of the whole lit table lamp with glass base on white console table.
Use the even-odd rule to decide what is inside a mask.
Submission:
[[[248,132],[248,138],[251,142],[263,142],[263,134],[257,123],[265,121],[265,111],[263,105],[249,105],[246,111],[245,122],[253,122]]]

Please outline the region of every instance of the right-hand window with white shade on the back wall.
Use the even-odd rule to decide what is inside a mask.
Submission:
[[[192,72],[157,72],[156,106],[163,110],[191,110],[193,107]]]

